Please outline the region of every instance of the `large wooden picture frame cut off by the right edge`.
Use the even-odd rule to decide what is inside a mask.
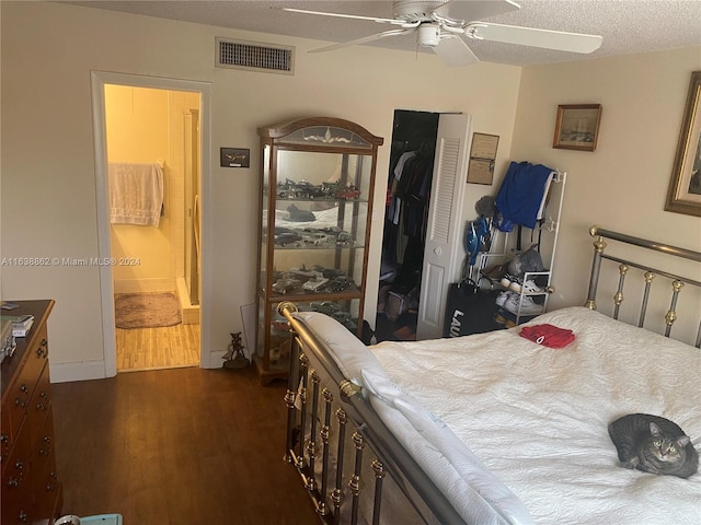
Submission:
[[[701,71],[691,73],[665,211],[701,217]]]

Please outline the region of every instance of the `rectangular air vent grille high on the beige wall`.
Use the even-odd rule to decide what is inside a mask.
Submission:
[[[218,68],[295,74],[295,48],[277,44],[217,38]]]

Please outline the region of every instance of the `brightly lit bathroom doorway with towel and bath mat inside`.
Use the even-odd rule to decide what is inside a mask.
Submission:
[[[101,268],[105,375],[207,366],[200,120],[208,89],[113,77],[93,74],[100,246],[113,261]]]

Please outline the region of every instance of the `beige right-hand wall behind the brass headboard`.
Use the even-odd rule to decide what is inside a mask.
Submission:
[[[552,307],[586,298],[579,277],[591,264],[591,224],[701,250],[701,219],[664,211],[691,71],[698,70],[701,47],[524,69],[512,156],[567,172]],[[553,149],[558,105],[587,103],[602,105],[596,151]],[[679,261],[675,271],[685,268],[701,280],[698,265]],[[600,303],[612,293],[601,294]],[[701,310],[689,287],[681,295]],[[637,318],[636,311],[624,310],[629,319]],[[678,322],[690,341],[693,323],[690,315]]]

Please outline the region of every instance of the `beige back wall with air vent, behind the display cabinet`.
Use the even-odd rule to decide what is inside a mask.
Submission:
[[[386,139],[381,177],[388,171],[394,109],[462,112],[472,115],[475,131],[501,137],[497,173],[509,158],[520,68],[479,63],[450,69],[433,55],[365,47],[309,55],[318,42],[59,3],[3,1],[0,9],[3,256],[99,255],[91,71],[211,85],[211,144],[204,153],[212,168],[203,174],[211,196],[203,202],[211,213],[211,231],[204,233],[214,245],[203,269],[211,282],[204,298],[206,314],[203,304],[211,325],[211,348],[206,349],[211,363],[220,363],[217,352],[226,350],[229,332],[243,329],[240,306],[254,301],[257,127],[298,116],[356,121]],[[296,74],[216,69],[216,36],[295,45]],[[218,167],[221,147],[249,148],[253,167]],[[468,186],[467,218],[474,213],[473,202],[490,191]],[[382,202],[383,197],[383,184],[378,184],[376,199]],[[374,220],[371,295],[379,272],[381,213]],[[5,267],[2,295],[55,299],[49,326],[54,377],[95,375],[104,360],[99,268]]]

